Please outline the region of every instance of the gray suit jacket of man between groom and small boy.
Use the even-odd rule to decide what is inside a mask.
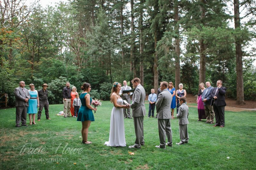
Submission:
[[[156,113],[158,119],[171,118],[172,94],[164,89],[159,95],[156,102]]]

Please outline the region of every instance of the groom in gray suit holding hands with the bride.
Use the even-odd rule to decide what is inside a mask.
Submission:
[[[145,89],[140,84],[139,78],[132,79],[132,85],[135,88],[135,91],[132,96],[132,117],[135,129],[135,145],[129,146],[129,148],[140,148],[141,145],[144,145],[144,130],[143,130],[143,120],[146,115],[145,99],[146,92]]]

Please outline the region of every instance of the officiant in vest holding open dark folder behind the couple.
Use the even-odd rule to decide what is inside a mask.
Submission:
[[[120,92],[119,92],[119,95],[122,97],[123,100],[125,100],[127,103],[130,104],[130,103],[131,103],[131,98],[130,98],[130,96],[132,96],[132,92],[131,92],[131,93],[123,93],[123,92],[124,92],[124,90],[131,90],[132,88],[131,88],[130,86],[127,86],[127,81],[126,81],[126,80],[123,81],[123,85],[124,85],[124,86],[121,87],[121,90],[120,90]],[[125,104],[125,103],[124,103],[124,104]],[[129,119],[132,118],[132,117],[131,117],[130,108],[128,108],[128,109],[123,109],[123,112],[124,112],[124,118],[129,118]]]

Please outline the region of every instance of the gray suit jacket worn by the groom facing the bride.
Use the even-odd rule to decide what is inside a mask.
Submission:
[[[138,85],[132,95],[132,117],[140,117],[146,115],[145,107],[146,92],[145,89]]]

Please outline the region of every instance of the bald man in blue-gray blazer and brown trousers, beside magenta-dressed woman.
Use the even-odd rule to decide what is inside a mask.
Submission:
[[[205,85],[207,88],[206,88],[206,90],[204,90],[204,92],[202,94],[202,101],[204,102],[204,112],[205,112],[205,116],[206,116],[205,123],[213,124],[214,123],[214,112],[213,112],[213,108],[211,106],[211,103],[212,103],[211,93],[212,93],[213,87],[211,86],[211,83],[209,81],[207,81],[205,83]]]

